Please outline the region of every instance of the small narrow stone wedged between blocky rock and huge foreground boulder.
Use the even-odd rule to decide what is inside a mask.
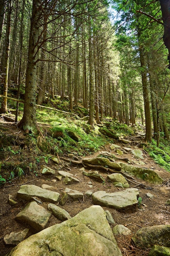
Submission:
[[[58,220],[64,221],[71,219],[70,214],[66,210],[58,207],[56,204],[48,204],[47,208],[49,211],[53,213],[53,216],[56,217]]]

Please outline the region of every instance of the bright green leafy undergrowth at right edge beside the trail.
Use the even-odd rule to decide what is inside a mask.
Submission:
[[[170,144],[166,139],[161,138],[159,148],[157,147],[157,141],[152,139],[152,143],[148,144],[145,148],[150,157],[154,161],[162,166],[166,171],[170,171]]]

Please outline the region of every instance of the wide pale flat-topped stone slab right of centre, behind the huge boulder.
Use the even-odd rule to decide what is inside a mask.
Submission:
[[[95,204],[121,210],[137,205],[138,195],[138,189],[126,189],[115,193],[97,191],[92,194],[92,199]]]

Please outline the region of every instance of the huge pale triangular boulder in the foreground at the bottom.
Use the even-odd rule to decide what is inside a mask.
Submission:
[[[17,245],[9,256],[121,256],[100,206],[91,206],[70,220],[53,225]]]

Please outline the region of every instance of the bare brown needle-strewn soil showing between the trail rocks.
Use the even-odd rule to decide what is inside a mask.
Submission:
[[[18,140],[20,138],[23,139],[23,133],[17,130],[15,126],[12,126],[11,123],[7,122],[0,122],[0,128],[5,126],[5,133],[6,135],[10,134],[17,134]],[[115,144],[123,147],[124,144],[121,144],[120,142],[115,140]],[[126,145],[127,146],[127,145]],[[128,145],[131,146],[131,145]],[[15,150],[17,151],[17,146],[15,146]],[[133,146],[131,146],[133,148]],[[15,152],[16,152],[15,151]],[[30,148],[25,148],[22,151],[20,151],[20,155],[22,154],[22,159],[33,159],[35,158],[35,152],[32,152],[33,150],[30,150]],[[114,150],[110,150],[110,146],[106,145],[105,148],[102,148],[102,151],[107,151],[110,153],[115,153]],[[18,152],[18,151],[17,151]],[[93,155],[90,155],[89,157],[95,157],[97,156],[99,152],[95,152]],[[73,152],[74,153],[74,152]],[[3,162],[10,162],[15,163],[18,162],[18,154],[11,154],[11,156],[6,155],[5,152],[3,154],[3,159],[1,156],[2,164]],[[73,154],[74,155],[74,154]],[[69,158],[67,155],[60,155],[59,157],[65,157]],[[124,155],[124,157],[128,158],[129,160],[134,159],[134,155],[131,155],[130,153],[127,153]],[[63,160],[61,160],[63,161]],[[163,168],[158,166],[151,158],[150,156],[144,152],[144,167],[152,168],[155,170],[162,178],[163,178],[163,184],[162,185],[155,185],[150,184],[148,182],[145,182],[143,180],[139,180],[135,178],[135,180],[139,183],[129,182],[131,188],[137,188],[139,189],[139,196],[142,198],[142,204],[141,207],[136,209],[135,211],[132,210],[124,210],[124,211],[117,211],[115,209],[108,209],[106,207],[103,207],[104,210],[109,210],[112,214],[116,224],[125,225],[132,231],[132,235],[129,236],[116,236],[116,240],[118,243],[119,248],[121,249],[123,256],[141,256],[141,255],[148,255],[149,249],[146,248],[137,248],[135,247],[132,242],[131,238],[135,232],[140,229],[141,227],[148,227],[153,225],[161,225],[161,224],[170,224],[170,206],[167,206],[165,204],[166,200],[170,198],[170,173],[168,171],[165,171]],[[68,163],[67,163],[68,164]],[[49,167],[53,169],[57,169],[57,166],[49,160],[48,164]],[[15,220],[15,216],[21,211],[22,208],[24,208],[26,202],[24,200],[18,199],[16,197],[16,193],[20,188],[21,184],[34,184],[36,186],[42,186],[42,184],[48,184],[51,186],[55,186],[57,192],[61,192],[66,187],[80,191],[82,193],[85,193],[87,190],[90,190],[88,186],[88,182],[90,181],[89,177],[86,177],[82,174],[79,169],[81,168],[81,165],[76,164],[69,164],[70,172],[74,175],[77,175],[77,177],[82,181],[79,184],[71,184],[66,185],[62,181],[53,182],[52,180],[55,179],[55,175],[52,176],[45,176],[42,175],[40,172],[37,173],[37,176],[35,173],[25,173],[24,176],[20,177],[20,179],[15,178],[13,180],[7,181],[5,184],[0,186],[0,255],[4,256],[7,253],[11,251],[13,246],[7,246],[4,244],[3,237],[6,234],[10,234],[12,231],[18,232],[26,227],[29,227],[29,225],[26,225],[26,223],[19,223]],[[3,169],[3,166],[2,166]],[[62,168],[63,171],[68,171],[68,169]],[[95,169],[94,169],[95,170]],[[99,173],[106,179],[105,183],[100,183],[95,180],[91,180],[93,188],[93,192],[105,190],[107,192],[115,192],[118,191],[118,188],[115,188],[112,183],[108,182],[106,171],[97,170]],[[2,173],[2,172],[1,172]],[[154,195],[153,199],[149,199],[146,196],[146,193],[152,193]],[[15,206],[11,206],[8,203],[9,194],[13,195],[13,199],[18,202]],[[93,205],[93,202],[91,198],[84,196],[83,200],[78,201],[71,201],[69,200],[62,208],[68,211],[68,213],[73,217],[79,211],[82,211],[88,207]],[[42,206],[47,207],[47,203],[43,202]],[[49,223],[47,227],[60,223],[57,218],[54,218],[52,216],[49,220]],[[31,227],[29,231],[29,236],[35,233],[35,230],[33,230]]]

